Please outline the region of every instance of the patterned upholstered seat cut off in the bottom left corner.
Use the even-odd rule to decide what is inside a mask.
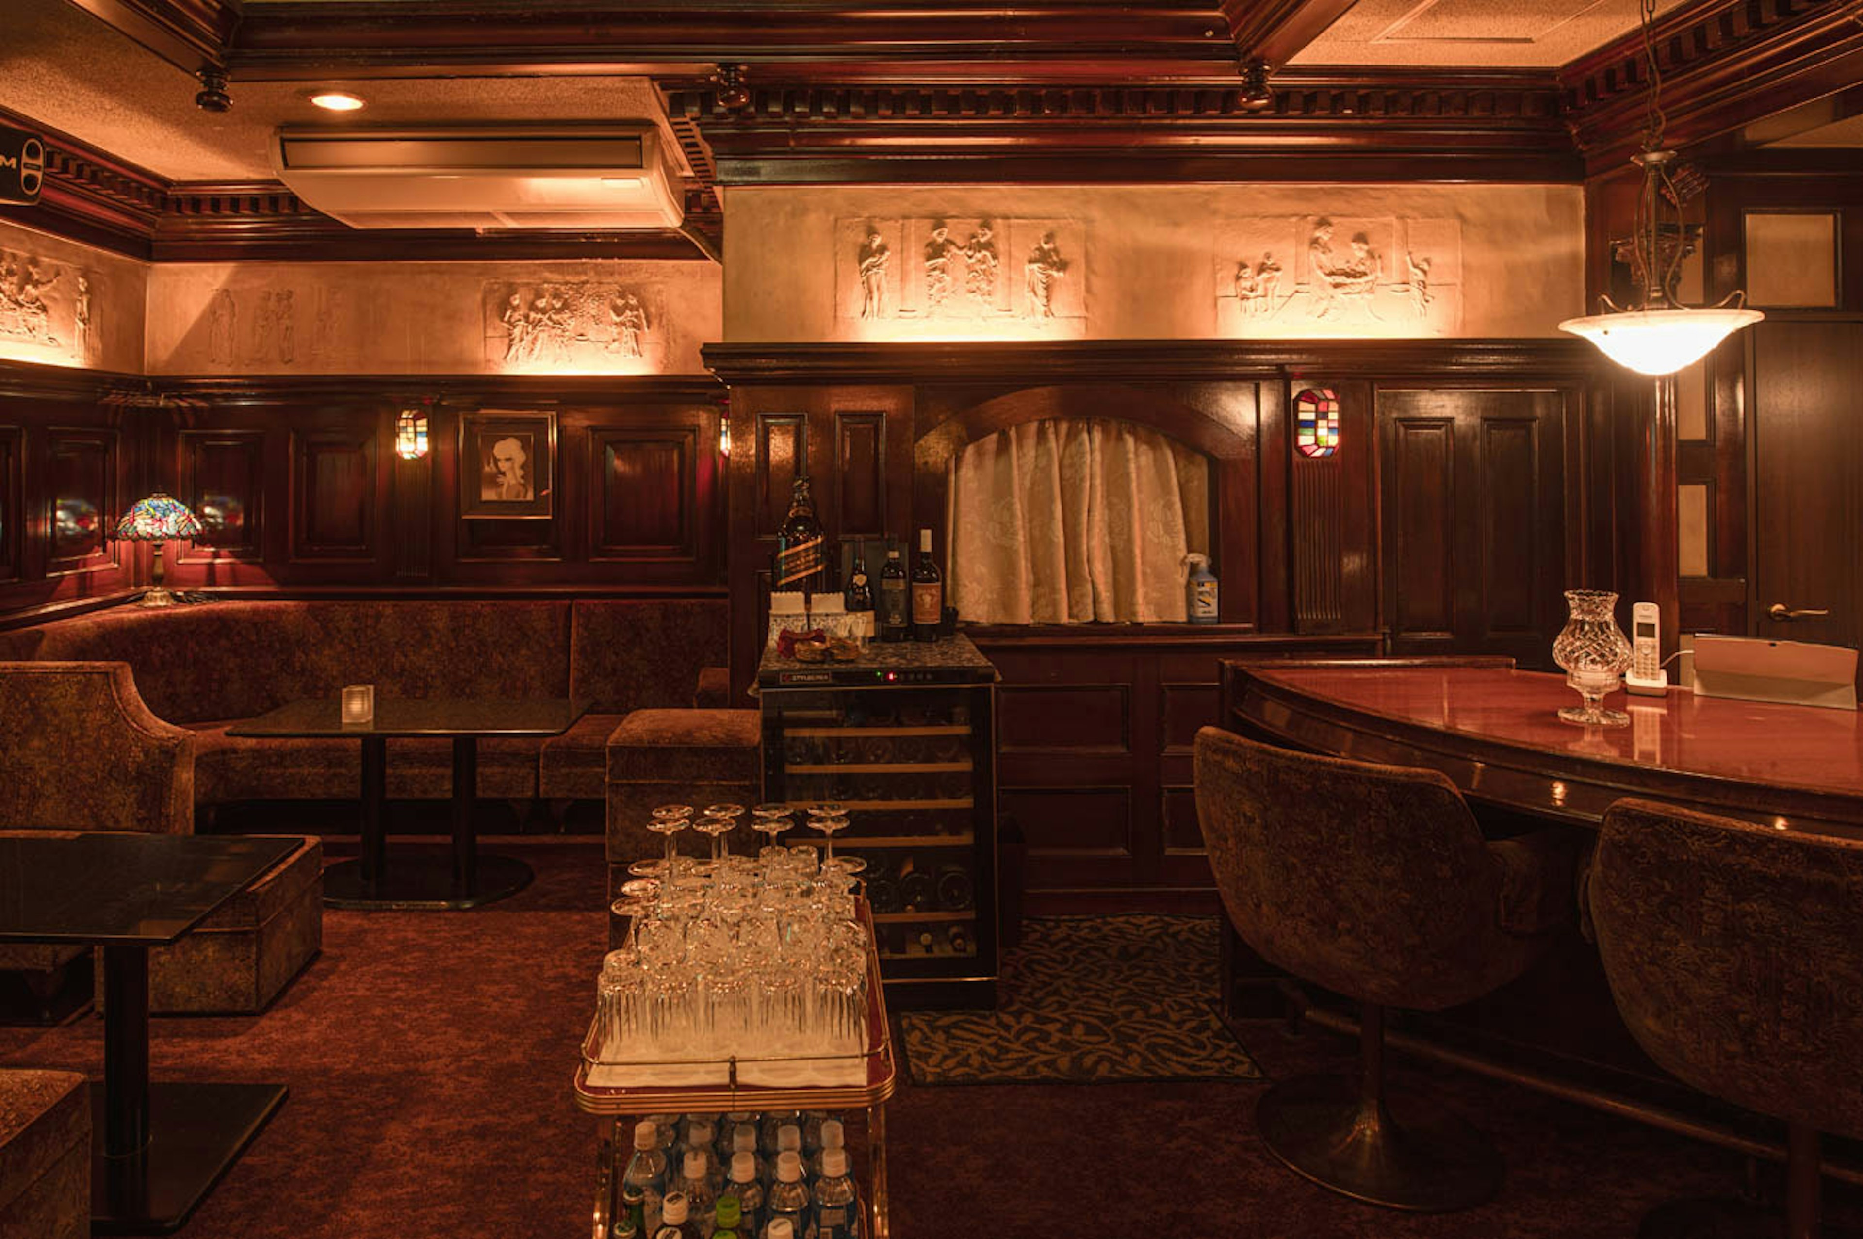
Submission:
[[[89,1233],[89,1086],[71,1071],[0,1069],[0,1239]]]

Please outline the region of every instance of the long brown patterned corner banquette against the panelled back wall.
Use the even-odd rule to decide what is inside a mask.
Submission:
[[[358,796],[352,740],[229,736],[240,719],[300,697],[374,684],[376,695],[572,697],[589,710],[548,740],[479,745],[479,796],[602,799],[607,738],[641,708],[723,706],[723,598],[287,600],[110,611],[0,632],[4,660],[127,663],[162,723],[194,734],[197,807]],[[0,717],[0,743],[15,719]],[[69,715],[61,734],[84,743]],[[445,740],[391,740],[388,794],[451,796]]]

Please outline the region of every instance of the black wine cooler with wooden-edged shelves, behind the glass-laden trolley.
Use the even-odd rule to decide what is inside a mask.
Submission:
[[[935,647],[933,647],[935,648]],[[764,799],[838,801],[894,1006],[991,1004],[995,686],[758,686]],[[790,842],[818,842],[797,829]],[[902,887],[911,887],[907,898]],[[943,885],[943,891],[941,891]],[[956,905],[954,905],[956,904]]]

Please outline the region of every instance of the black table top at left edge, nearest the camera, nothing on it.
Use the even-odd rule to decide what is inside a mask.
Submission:
[[[296,838],[0,837],[0,943],[162,946],[291,855]]]

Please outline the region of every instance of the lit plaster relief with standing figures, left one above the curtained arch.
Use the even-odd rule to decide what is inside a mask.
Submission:
[[[987,216],[835,222],[835,317],[861,339],[1086,334],[1086,225]]]

